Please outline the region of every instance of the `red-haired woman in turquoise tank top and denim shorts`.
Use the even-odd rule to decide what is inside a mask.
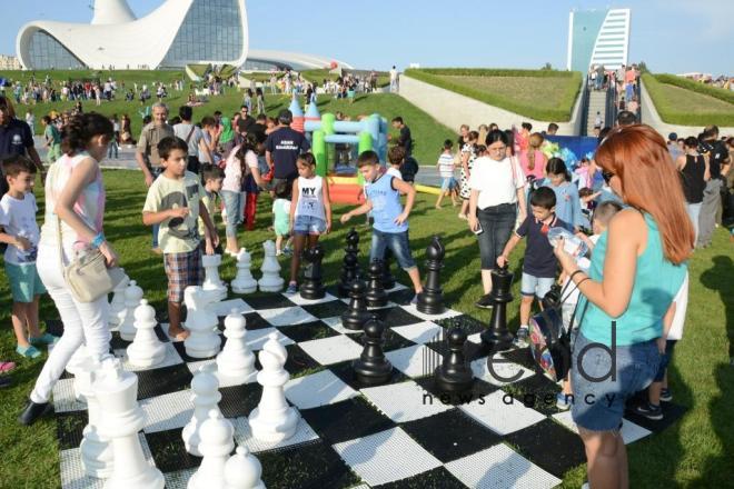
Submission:
[[[584,441],[589,486],[626,488],[627,453],[619,435],[628,396],[657,371],[663,318],[685,276],[694,231],[665,140],[649,126],[617,128],[596,163],[628,206],[609,222],[588,275],[556,247],[583,299],[573,352],[573,418]]]

